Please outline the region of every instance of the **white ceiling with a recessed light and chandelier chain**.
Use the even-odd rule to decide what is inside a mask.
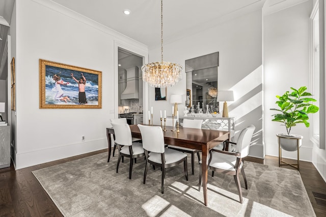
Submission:
[[[159,0],[51,1],[137,40],[150,49],[160,46]],[[219,22],[261,8],[266,14],[305,1],[308,0],[164,0],[164,43],[195,34]],[[0,0],[0,26],[9,25],[13,5],[14,0]],[[122,12],[124,9],[130,10],[130,15],[124,15]],[[7,35],[5,30],[3,32]],[[6,38],[4,36],[0,44],[0,60],[5,56],[3,50]],[[3,65],[3,61],[1,64]]]

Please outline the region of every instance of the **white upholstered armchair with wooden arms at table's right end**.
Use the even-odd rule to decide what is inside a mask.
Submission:
[[[239,180],[239,174],[241,173],[244,179],[244,184],[246,189],[248,189],[246,174],[244,174],[243,169],[243,157],[248,156],[250,149],[251,138],[255,131],[255,126],[250,125],[244,129],[239,134],[239,138],[236,143],[229,142],[235,145],[235,152],[222,151],[217,149],[212,149],[210,151],[210,156],[208,160],[208,169],[213,172],[224,173],[228,175],[233,175],[236,187],[238,189],[240,203],[242,203],[242,189]],[[228,142],[228,141],[227,141]],[[200,164],[202,162],[200,161]],[[202,183],[202,172],[201,166],[199,173],[199,186],[198,190],[200,191]],[[212,173],[214,176],[214,173]]]

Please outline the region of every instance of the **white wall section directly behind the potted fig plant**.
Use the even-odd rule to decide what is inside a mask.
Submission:
[[[309,30],[312,1],[264,16],[264,143],[265,154],[278,156],[276,134],[286,133],[285,126],[272,122],[277,108],[276,95],[290,91],[290,87],[307,86],[309,75]],[[291,128],[292,134],[303,135],[301,160],[312,160],[313,144],[310,129],[304,124]],[[282,156],[295,158],[296,152],[282,151]]]

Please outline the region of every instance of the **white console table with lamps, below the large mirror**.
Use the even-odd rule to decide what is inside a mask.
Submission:
[[[168,118],[172,118],[172,116],[168,116]],[[209,117],[209,115],[203,114],[202,116],[195,116],[195,117],[192,117],[190,115],[179,116],[179,119],[180,119],[179,122],[181,126],[182,126],[183,119],[200,119],[203,120],[203,124],[202,124],[203,129],[227,130],[231,134],[230,138],[234,137],[234,129],[235,129],[234,117],[222,118],[222,117],[212,117],[211,115]]]

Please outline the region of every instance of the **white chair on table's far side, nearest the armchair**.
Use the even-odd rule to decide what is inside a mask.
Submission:
[[[203,120],[194,120],[194,119],[183,119],[183,127],[187,128],[196,128],[196,129],[201,129],[202,128],[202,123]],[[194,175],[195,171],[195,154],[197,153],[198,156],[198,161],[200,161],[200,155],[199,155],[199,150],[196,149],[190,149],[190,148],[183,148],[179,146],[174,146],[174,145],[169,145],[169,148],[172,148],[174,150],[186,152],[192,154],[192,173]]]

